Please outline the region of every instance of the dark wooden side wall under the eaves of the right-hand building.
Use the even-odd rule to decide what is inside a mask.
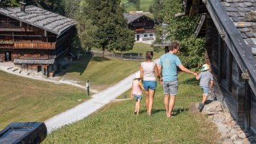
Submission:
[[[249,130],[256,133],[256,97],[248,88],[246,92],[246,80],[241,77],[241,70],[229,47],[225,44],[222,34],[219,34],[211,16],[207,15],[206,19],[206,57],[205,62],[211,65],[212,74],[214,75],[214,86],[212,95],[220,102],[223,102],[225,108],[229,109],[237,124],[242,128],[250,126]],[[248,85],[249,86],[249,85]],[[249,106],[246,106],[246,99]],[[249,112],[249,114],[246,113]],[[246,123],[249,120],[249,124]]]

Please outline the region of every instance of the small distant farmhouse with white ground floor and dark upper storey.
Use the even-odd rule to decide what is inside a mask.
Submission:
[[[123,14],[127,19],[128,27],[131,30],[135,30],[135,40],[155,40],[155,25],[159,22],[151,19],[144,14]]]

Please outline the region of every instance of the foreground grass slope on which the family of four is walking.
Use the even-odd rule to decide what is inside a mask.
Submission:
[[[171,119],[166,117],[162,86],[158,84],[150,117],[146,115],[145,97],[138,116],[133,114],[134,101],[115,102],[52,132],[43,143],[217,143],[216,127],[205,117],[188,112],[190,102],[201,100],[199,91],[193,76],[180,73],[175,115]]]

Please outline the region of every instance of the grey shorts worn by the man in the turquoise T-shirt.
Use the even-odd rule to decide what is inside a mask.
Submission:
[[[178,92],[178,80],[162,82],[164,88],[164,95],[177,95]]]

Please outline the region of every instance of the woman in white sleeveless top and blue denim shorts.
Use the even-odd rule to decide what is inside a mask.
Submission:
[[[143,86],[146,94],[146,108],[147,114],[151,115],[153,108],[153,100],[155,95],[155,89],[157,88],[157,81],[155,76],[159,77],[157,64],[152,62],[153,51],[146,52],[146,62],[140,64],[140,77],[143,80]]]

